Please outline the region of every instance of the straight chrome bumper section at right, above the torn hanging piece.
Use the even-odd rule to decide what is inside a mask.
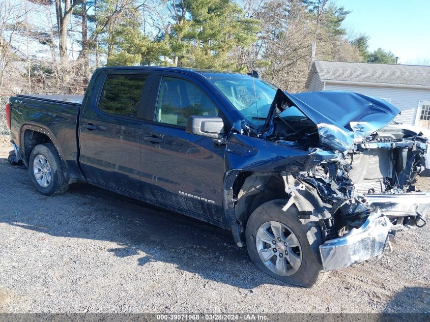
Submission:
[[[408,192],[403,194],[366,194],[367,203],[377,206],[386,216],[425,216],[430,210],[430,193]]]

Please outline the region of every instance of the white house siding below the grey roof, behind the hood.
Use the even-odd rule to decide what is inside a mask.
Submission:
[[[384,86],[363,86],[326,83],[326,91],[351,91],[363,95],[374,96],[383,99],[390,99],[390,103],[400,111],[394,119],[405,124],[415,124],[416,113],[420,101],[430,101],[430,90],[413,88],[384,87]]]

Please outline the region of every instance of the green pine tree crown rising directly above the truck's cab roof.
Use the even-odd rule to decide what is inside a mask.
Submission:
[[[256,40],[257,20],[244,18],[231,0],[185,0],[171,6],[178,15],[166,39],[174,65],[238,69],[230,53]]]

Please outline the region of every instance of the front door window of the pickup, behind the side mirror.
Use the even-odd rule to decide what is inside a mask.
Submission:
[[[156,121],[186,126],[191,115],[218,116],[218,108],[196,84],[174,77],[163,77],[158,93]]]

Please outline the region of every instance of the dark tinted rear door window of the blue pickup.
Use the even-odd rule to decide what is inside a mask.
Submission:
[[[136,74],[107,75],[100,95],[99,109],[111,115],[136,118],[146,78],[146,75]]]

